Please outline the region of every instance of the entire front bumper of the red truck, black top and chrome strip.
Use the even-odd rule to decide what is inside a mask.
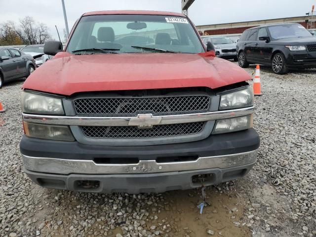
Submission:
[[[203,185],[240,178],[254,165],[259,144],[257,132],[248,129],[196,142],[137,147],[90,146],[24,136],[20,150],[25,173],[40,186],[141,193],[197,188],[202,186],[194,182],[197,175],[209,177]],[[160,162],[159,158],[174,160]],[[82,180],[97,181],[98,187],[84,188],[78,185]]]

